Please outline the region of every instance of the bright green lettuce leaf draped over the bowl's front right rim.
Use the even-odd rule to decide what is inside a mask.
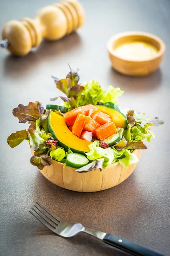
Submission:
[[[128,149],[122,149],[123,154],[122,157],[119,159],[119,163],[122,164],[124,167],[128,167],[132,163],[139,162],[136,154],[130,153]]]

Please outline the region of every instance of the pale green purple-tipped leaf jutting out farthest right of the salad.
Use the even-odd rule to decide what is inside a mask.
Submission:
[[[137,123],[140,123],[140,125],[144,128],[144,125],[150,124],[153,126],[159,126],[163,125],[164,121],[160,120],[158,117],[150,118],[148,116],[145,116],[145,113],[136,113],[134,114],[134,118]]]

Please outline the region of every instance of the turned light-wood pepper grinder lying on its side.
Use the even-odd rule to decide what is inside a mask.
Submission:
[[[84,18],[85,12],[78,0],[62,0],[42,8],[34,19],[8,21],[2,30],[0,46],[14,55],[26,55],[32,47],[40,45],[42,38],[58,40],[76,31]]]

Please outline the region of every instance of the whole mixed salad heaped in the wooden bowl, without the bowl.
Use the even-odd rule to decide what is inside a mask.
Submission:
[[[149,118],[134,110],[124,115],[118,107],[120,88],[103,90],[98,81],[79,83],[79,69],[65,79],[52,76],[57,88],[65,94],[59,105],[43,108],[40,102],[29,102],[13,109],[19,123],[28,122],[28,130],[12,133],[11,148],[27,140],[34,151],[31,164],[43,169],[52,160],[74,167],[77,172],[102,169],[118,162],[129,166],[138,162],[135,149],[147,149],[142,142],[150,142],[155,134],[152,126],[164,123],[158,117]]]

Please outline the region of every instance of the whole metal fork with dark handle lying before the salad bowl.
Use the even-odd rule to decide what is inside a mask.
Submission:
[[[61,218],[54,215],[54,213],[43,207],[40,203],[34,204],[34,208],[31,207],[31,209],[32,211],[29,212],[31,212],[35,218],[59,236],[72,237],[80,232],[85,232],[91,236],[95,236],[107,244],[112,245],[113,247],[119,248],[120,250],[131,253],[135,256],[164,256],[161,253],[157,253],[143,247],[142,245],[135,244],[118,236],[85,228],[80,223],[72,224],[68,221],[63,221]]]

